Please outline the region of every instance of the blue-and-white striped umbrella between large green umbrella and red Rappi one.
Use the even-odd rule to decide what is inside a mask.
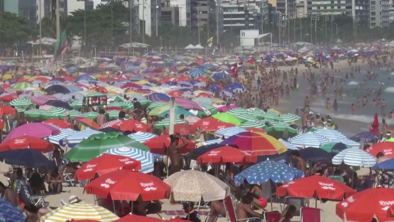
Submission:
[[[150,173],[153,171],[154,158],[153,154],[150,152],[141,151],[134,147],[115,147],[105,151],[104,153],[127,156],[128,158],[138,160],[141,162],[141,169],[139,171],[142,173]]]

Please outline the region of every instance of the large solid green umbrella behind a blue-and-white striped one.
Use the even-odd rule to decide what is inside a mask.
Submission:
[[[85,162],[114,147],[134,147],[142,151],[149,151],[147,146],[121,132],[112,132],[89,136],[67,152],[64,158],[71,162]]]

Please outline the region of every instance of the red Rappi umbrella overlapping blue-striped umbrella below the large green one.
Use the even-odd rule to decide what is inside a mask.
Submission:
[[[78,181],[90,180],[95,178],[96,173],[101,176],[119,168],[138,171],[141,169],[141,162],[126,156],[103,154],[82,165],[75,172],[75,178]]]

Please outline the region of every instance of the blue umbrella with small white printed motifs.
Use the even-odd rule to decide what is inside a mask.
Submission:
[[[304,172],[288,164],[273,160],[265,160],[238,173],[234,177],[234,182],[236,186],[243,184],[245,180],[249,184],[262,184],[268,180],[275,183],[284,183],[304,176]]]

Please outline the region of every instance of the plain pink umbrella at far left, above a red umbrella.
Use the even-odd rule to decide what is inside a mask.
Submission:
[[[43,122],[32,122],[32,123],[26,123],[22,126],[19,126],[11,130],[11,132],[9,132],[9,134],[4,139],[4,141],[7,141],[15,137],[20,137],[23,135],[28,135],[37,138],[44,138],[50,135],[58,135],[58,134],[60,134],[60,130],[58,128],[55,128]]]

